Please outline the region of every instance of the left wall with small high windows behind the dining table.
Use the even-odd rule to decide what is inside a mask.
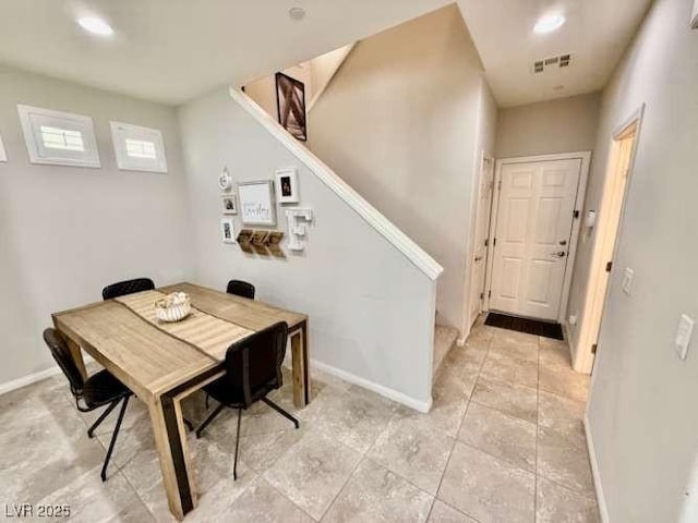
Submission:
[[[101,169],[28,163],[17,104],[92,117]],[[169,173],[119,171],[109,120],[163,131]],[[53,365],[51,313],[119,279],[184,279],[191,232],[172,108],[1,68],[0,135],[1,385]]]

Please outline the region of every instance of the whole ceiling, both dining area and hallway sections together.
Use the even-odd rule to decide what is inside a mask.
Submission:
[[[452,0],[2,0],[0,64],[179,105],[226,83],[290,63],[417,17]],[[500,106],[601,89],[651,0],[457,0]],[[301,22],[288,10],[302,7]],[[543,14],[557,32],[535,35]],[[75,19],[107,19],[115,36]],[[571,52],[539,75],[535,59]]]

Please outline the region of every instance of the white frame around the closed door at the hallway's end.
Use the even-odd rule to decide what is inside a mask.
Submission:
[[[490,242],[488,243],[488,266],[485,276],[485,288],[488,292],[484,297],[484,309],[490,311],[490,293],[492,292],[492,271],[494,267],[494,238],[497,227],[497,218],[500,211],[500,196],[502,194],[502,167],[512,163],[532,163],[537,161],[555,161],[555,160],[581,160],[579,168],[579,181],[577,183],[577,196],[575,197],[575,218],[571,222],[571,234],[569,236],[569,251],[567,252],[567,266],[565,268],[565,278],[563,280],[563,293],[561,295],[559,312],[557,321],[565,325],[567,316],[567,302],[569,300],[569,288],[571,284],[571,273],[575,268],[575,258],[577,257],[577,242],[579,240],[579,231],[581,229],[582,216],[581,211],[585,205],[585,196],[587,194],[587,181],[589,180],[589,166],[591,165],[591,151],[579,150],[575,153],[558,153],[554,155],[535,155],[535,156],[517,156],[513,158],[501,158],[495,162],[494,169],[494,194],[492,195],[492,214],[490,216]]]

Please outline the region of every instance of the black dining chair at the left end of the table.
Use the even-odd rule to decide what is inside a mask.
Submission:
[[[44,331],[44,341],[50,349],[53,360],[56,360],[56,363],[58,363],[58,366],[61,367],[61,370],[68,378],[70,391],[75,398],[75,406],[77,406],[77,410],[80,412],[91,412],[107,405],[105,412],[103,412],[97,421],[87,429],[87,436],[89,438],[94,437],[95,429],[105,421],[109,413],[115,410],[119,402],[121,402],[119,418],[111,435],[109,450],[107,450],[107,457],[101,467],[101,481],[106,482],[107,466],[109,466],[109,460],[111,459],[111,453],[113,452],[113,447],[119,436],[123,414],[127,412],[129,398],[131,398],[133,392],[108,370],[100,370],[87,379],[83,379],[65,340],[58,330],[51,328],[46,329]]]

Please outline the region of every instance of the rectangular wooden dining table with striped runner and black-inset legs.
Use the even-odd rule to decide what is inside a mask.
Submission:
[[[189,294],[192,314],[178,324],[153,320],[144,305],[147,303],[149,312],[153,296],[172,292]],[[83,376],[81,349],[147,405],[163,483],[178,520],[192,511],[197,500],[182,400],[225,374],[227,346],[286,321],[291,341],[293,402],[304,406],[310,401],[304,314],[183,282],[55,313],[52,318]]]

